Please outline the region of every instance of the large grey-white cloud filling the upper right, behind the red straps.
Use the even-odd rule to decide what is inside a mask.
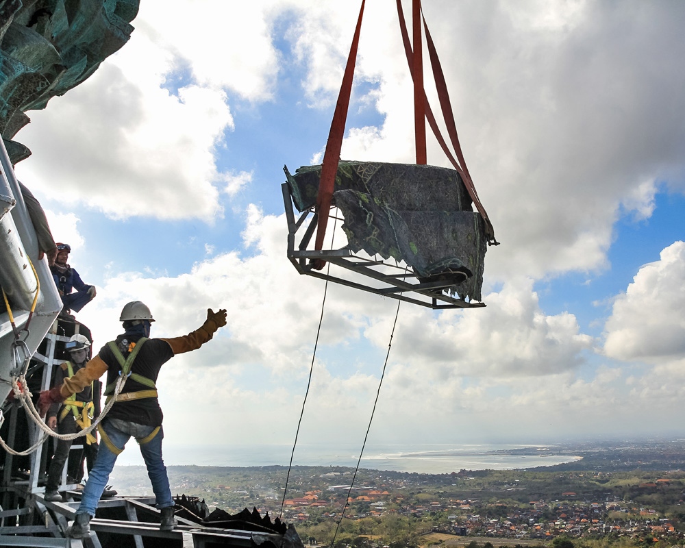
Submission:
[[[500,7],[423,7],[466,161],[503,244],[489,254],[490,277],[605,269],[621,208],[650,216],[652,182],[685,173],[685,134],[671,114],[685,108],[675,92],[684,7],[632,4],[620,16],[590,2]],[[373,47],[385,51],[391,38],[376,32]],[[373,93],[385,119],[375,130],[349,128],[343,158],[413,161],[410,78],[393,46],[376,65],[366,57],[373,48],[360,45],[360,66],[378,75]],[[429,163],[447,165],[430,137],[428,147]]]

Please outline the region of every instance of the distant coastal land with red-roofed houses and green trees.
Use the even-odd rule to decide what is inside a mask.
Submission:
[[[525,454],[534,449],[516,449]],[[466,544],[473,538],[539,544],[569,538],[682,545],[685,539],[685,444],[680,440],[569,444],[582,460],[516,471],[430,475],[295,466],[284,498],[285,466],[169,466],[175,493],[201,497],[228,512],[256,507],[281,514],[302,540],[330,545]],[[147,494],[144,467],[116,468],[120,493]],[[482,538],[480,538],[482,537]],[[473,548],[473,547],[472,547]]]

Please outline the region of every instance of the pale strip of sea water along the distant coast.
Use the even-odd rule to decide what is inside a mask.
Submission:
[[[142,465],[134,443],[116,464]],[[501,453],[507,449],[530,449],[525,456]],[[293,466],[356,466],[360,447],[352,445],[298,445]],[[167,466],[288,466],[292,445],[227,445],[182,447],[164,445]],[[444,474],[466,470],[514,470],[553,466],[580,457],[557,455],[553,445],[367,445],[360,468]]]

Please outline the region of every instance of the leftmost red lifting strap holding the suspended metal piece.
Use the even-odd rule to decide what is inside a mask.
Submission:
[[[338,162],[340,161],[340,148],[343,147],[345,121],[347,121],[347,109],[349,108],[349,96],[352,91],[352,77],[354,75],[354,64],[357,59],[359,34],[362,29],[364,1],[365,0],[362,0],[362,8],[359,10],[357,27],[354,31],[354,38],[352,39],[352,45],[349,50],[349,55],[347,56],[347,66],[345,66],[343,85],[340,86],[338,103],[336,103],[336,111],[333,114],[333,123],[331,124],[331,131],[328,134],[326,151],[323,154],[323,165],[321,166],[321,179],[319,182],[319,195],[316,197],[316,212],[319,216],[319,222],[316,227],[316,242],[314,242],[314,249],[323,249],[323,238],[326,234],[328,212],[331,208],[331,202],[333,199],[333,190],[336,180],[336,173],[338,173]],[[323,269],[324,264],[326,264],[324,260],[316,259],[314,261],[312,268],[316,270],[321,270]]]

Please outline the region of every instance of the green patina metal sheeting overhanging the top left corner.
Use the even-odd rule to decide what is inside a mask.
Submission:
[[[131,36],[139,0],[0,1],[0,134],[12,163],[31,151],[11,140],[27,110],[84,82]]]

